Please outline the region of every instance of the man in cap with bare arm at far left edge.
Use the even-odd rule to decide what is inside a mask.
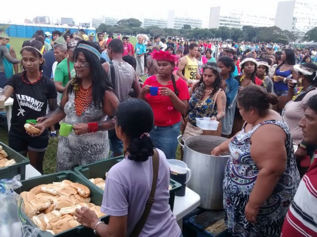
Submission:
[[[19,60],[11,57],[8,48],[6,47],[8,43],[9,36],[1,30],[0,32],[0,88],[4,88],[5,83],[7,82],[7,77],[5,73],[5,66],[3,60],[7,59],[12,64],[20,63]]]

